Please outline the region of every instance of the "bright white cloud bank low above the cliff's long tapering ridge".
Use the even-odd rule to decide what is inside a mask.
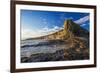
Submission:
[[[58,30],[61,30],[61,29],[62,28],[58,26],[54,26],[53,28],[48,28],[47,26],[45,26],[44,28],[39,29],[39,30],[32,30],[32,29],[24,28],[21,30],[21,39],[44,36],[47,34],[57,32]]]

